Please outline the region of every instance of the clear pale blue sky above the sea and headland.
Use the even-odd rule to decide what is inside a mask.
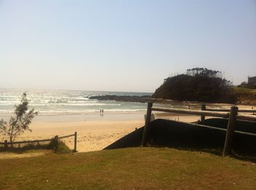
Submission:
[[[255,0],[0,0],[0,87],[154,92],[194,67],[256,76]]]

